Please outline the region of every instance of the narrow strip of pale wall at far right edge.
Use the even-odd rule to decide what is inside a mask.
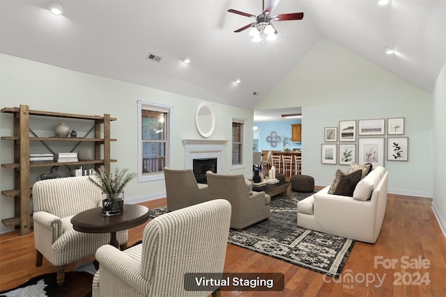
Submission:
[[[433,165],[433,201],[432,209],[446,236],[446,64],[443,66],[435,85],[434,100],[434,131],[435,141],[433,154],[436,162]]]

